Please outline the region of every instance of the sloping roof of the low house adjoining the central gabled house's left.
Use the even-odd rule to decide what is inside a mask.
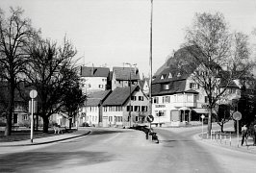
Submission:
[[[99,106],[102,102],[106,100],[106,98],[110,93],[111,93],[111,90],[101,90],[97,92],[90,92],[90,94],[88,95],[87,101],[85,101],[85,104],[90,107]]]

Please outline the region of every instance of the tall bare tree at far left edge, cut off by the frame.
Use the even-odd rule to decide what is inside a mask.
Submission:
[[[9,17],[5,17],[0,10],[0,78],[7,83],[9,93],[5,136],[10,136],[12,132],[14,90],[22,78],[22,73],[26,72],[28,56],[24,49],[37,35],[30,19],[22,18],[23,11],[20,8],[10,8],[10,13]]]

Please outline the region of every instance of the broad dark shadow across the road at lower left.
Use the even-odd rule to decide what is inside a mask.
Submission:
[[[114,156],[106,152],[25,152],[2,155],[1,172],[20,172],[26,170],[49,170],[65,163],[65,166],[82,166],[111,161]],[[30,171],[29,171],[30,172]]]

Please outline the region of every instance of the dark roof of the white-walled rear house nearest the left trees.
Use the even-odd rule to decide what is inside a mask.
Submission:
[[[81,77],[108,77],[110,68],[81,66]]]

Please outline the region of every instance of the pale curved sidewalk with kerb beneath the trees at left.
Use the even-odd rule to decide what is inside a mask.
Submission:
[[[66,140],[66,139],[71,139],[79,136],[86,136],[89,134],[90,134],[90,130],[78,130],[70,134],[60,134],[56,136],[35,138],[33,139],[33,143],[31,142],[31,139],[12,141],[12,142],[0,142],[0,147],[46,144],[46,143],[52,143],[52,142]]]

